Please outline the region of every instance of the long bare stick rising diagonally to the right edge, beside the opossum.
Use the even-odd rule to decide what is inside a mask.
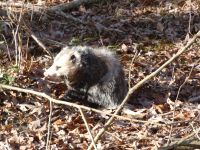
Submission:
[[[133,94],[133,92],[135,92],[143,84],[147,83],[151,78],[153,78],[154,76],[156,76],[163,68],[165,68],[168,64],[170,64],[176,58],[178,58],[183,52],[185,52],[196,41],[197,38],[199,38],[199,36],[200,36],[200,31],[198,31],[198,33],[196,35],[194,35],[193,38],[191,40],[189,40],[184,47],[182,47],[174,56],[172,56],[168,61],[166,61],[161,67],[159,67],[156,71],[154,71],[150,75],[146,76],[143,80],[141,80],[140,82],[138,82],[134,87],[132,87],[131,89],[129,89],[128,94],[126,95],[126,97],[124,98],[124,100],[122,101],[122,103],[119,105],[119,107],[115,111],[114,115],[117,115],[121,111],[121,109],[123,108],[123,106],[125,105],[125,103],[128,101],[128,99],[131,97],[131,95]],[[103,133],[110,126],[110,124],[113,122],[114,119],[115,119],[114,116],[112,116],[106,122],[106,124],[104,125],[104,128],[102,128],[99,131],[99,133],[97,133],[96,137],[94,138],[95,142],[97,142],[99,140],[99,138],[103,135]],[[90,144],[90,146],[88,147],[88,150],[91,150],[92,146],[93,145]]]

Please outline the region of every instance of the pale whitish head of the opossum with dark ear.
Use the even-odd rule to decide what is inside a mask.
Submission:
[[[85,77],[87,50],[81,47],[65,47],[54,59],[53,65],[44,72],[45,77],[65,77],[69,84],[81,82]]]

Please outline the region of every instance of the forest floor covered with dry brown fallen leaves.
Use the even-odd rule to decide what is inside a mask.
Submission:
[[[51,9],[64,2],[72,1],[0,2],[0,83],[63,96],[64,83],[43,78],[52,60],[33,35],[54,55],[65,45],[115,51],[132,87],[200,30],[195,0],[108,0],[62,13]],[[98,149],[200,148],[199,41],[133,93],[129,103],[133,114],[121,114],[129,120],[115,119]],[[45,149],[50,109],[44,98],[0,89],[0,150]],[[95,136],[109,116],[84,113]],[[78,109],[53,104],[51,149],[87,149],[90,143]]]

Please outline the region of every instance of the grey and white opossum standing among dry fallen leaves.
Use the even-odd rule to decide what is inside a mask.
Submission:
[[[66,46],[44,76],[64,77],[66,100],[88,101],[105,108],[116,108],[128,91],[122,65],[106,48]]]

